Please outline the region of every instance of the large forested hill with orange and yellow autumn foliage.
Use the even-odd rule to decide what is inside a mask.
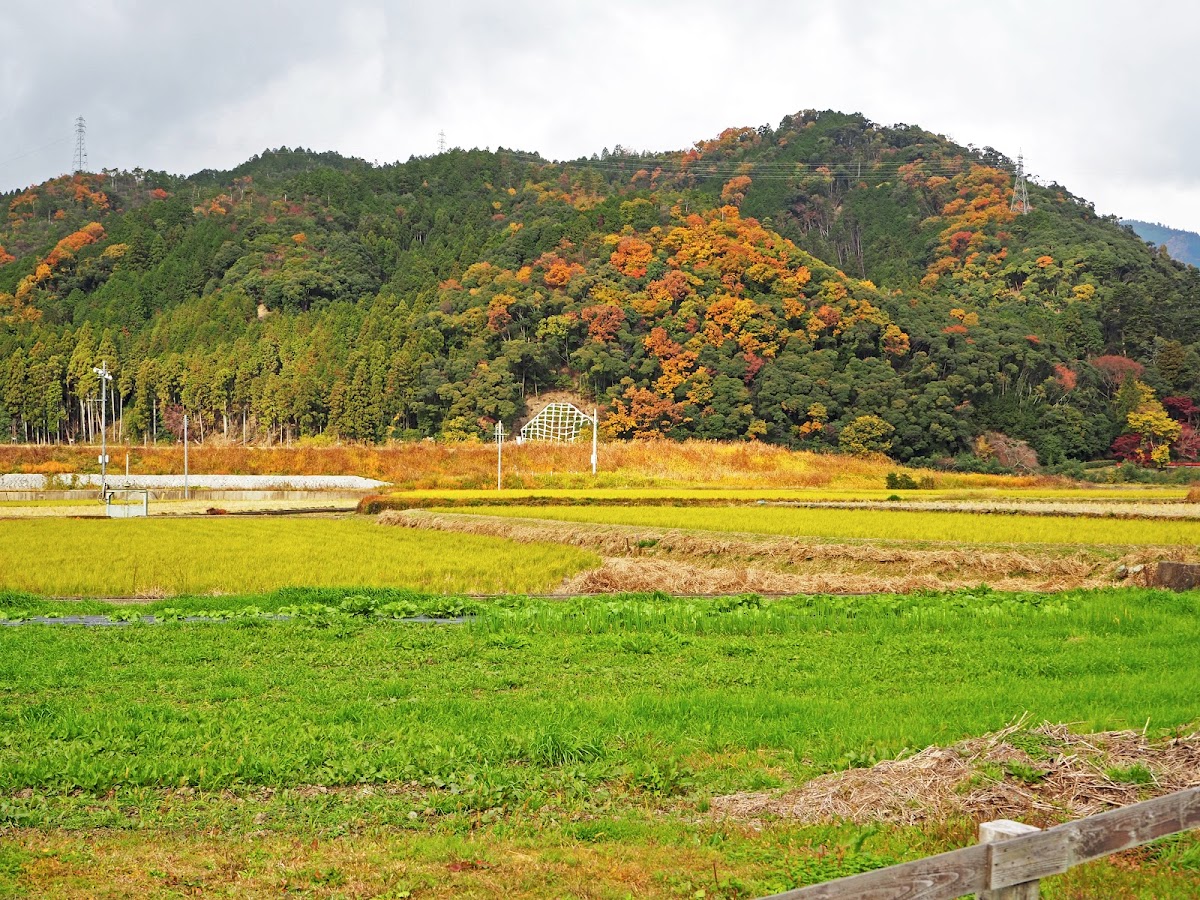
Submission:
[[[1013,212],[1012,172],[806,112],[569,163],[58,179],[0,198],[0,433],[94,434],[104,360],[126,439],[185,410],[205,439],[482,437],[570,389],[618,437],[1193,452],[1200,272],[1057,185]]]

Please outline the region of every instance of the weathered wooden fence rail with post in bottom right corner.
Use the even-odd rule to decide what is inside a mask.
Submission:
[[[980,844],[764,900],[1031,900],[1038,881],[1072,866],[1200,828],[1200,787],[1040,830],[1000,820],[979,826]]]

